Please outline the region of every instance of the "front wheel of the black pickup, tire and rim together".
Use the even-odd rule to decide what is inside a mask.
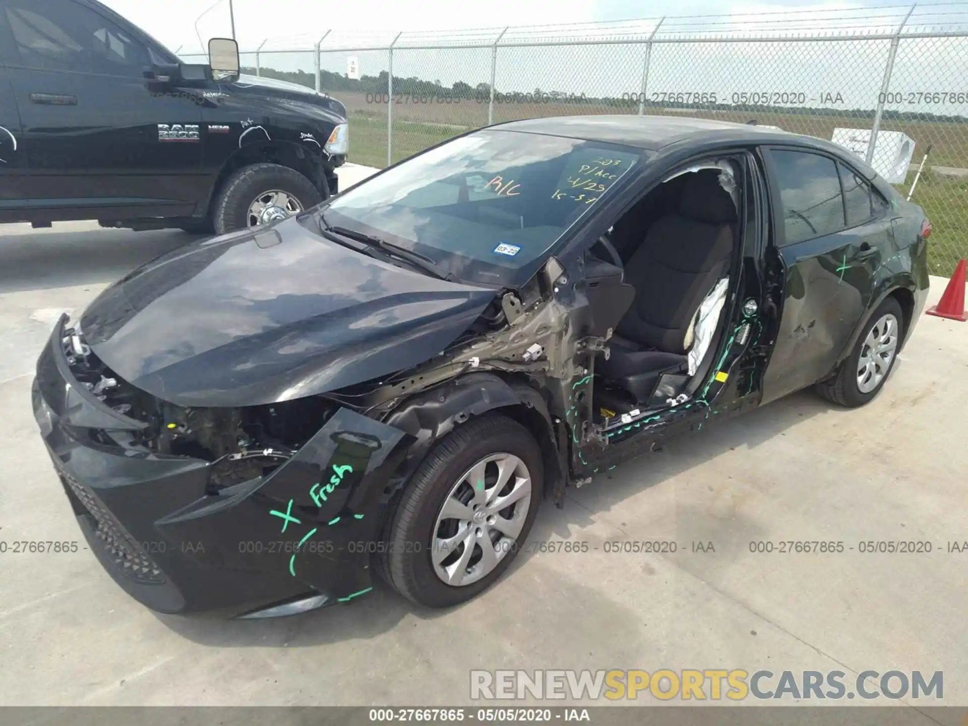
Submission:
[[[316,206],[322,195],[295,169],[278,164],[243,166],[228,177],[212,211],[219,234],[258,227]]]

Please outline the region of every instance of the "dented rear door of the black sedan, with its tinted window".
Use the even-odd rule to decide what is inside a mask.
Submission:
[[[773,147],[765,156],[785,287],[764,403],[832,371],[891,249],[889,215],[852,168],[801,147]]]

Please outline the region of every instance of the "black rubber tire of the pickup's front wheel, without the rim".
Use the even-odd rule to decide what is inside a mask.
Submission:
[[[301,210],[322,201],[316,186],[295,169],[278,164],[254,164],[237,169],[226,180],[212,208],[218,234],[249,227],[249,205],[264,192],[280,190],[296,199]]]

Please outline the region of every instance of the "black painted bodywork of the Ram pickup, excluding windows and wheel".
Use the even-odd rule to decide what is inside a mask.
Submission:
[[[103,15],[159,62],[178,62],[96,0],[57,2]],[[323,197],[336,193],[335,168],[345,159],[322,147],[346,123],[340,102],[292,83],[216,82],[210,71],[188,68],[198,79],[32,67],[17,55],[0,12],[0,222],[166,218],[180,225],[205,217],[231,170],[259,161],[292,166]],[[163,140],[160,125],[193,125],[197,140]]]

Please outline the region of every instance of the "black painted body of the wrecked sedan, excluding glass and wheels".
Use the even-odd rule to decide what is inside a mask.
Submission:
[[[103,560],[112,576],[141,602],[166,612],[241,615],[320,592],[329,601],[348,599],[371,587],[370,560],[360,550],[379,546],[387,500],[406,485],[434,439],[470,416],[500,409],[526,422],[554,465],[545,469],[560,473],[550,486],[560,501],[567,484],[656,440],[830,375],[886,295],[901,303],[905,340],[910,337],[928,285],[920,208],[820,139],[687,119],[670,131],[670,123],[621,117],[618,126],[600,119],[501,126],[589,136],[598,130],[609,140],[620,135],[617,128],[634,126],[635,145],[655,150],[615,197],[550,251],[549,267],[554,262],[561,272],[544,281],[554,284],[543,287],[545,299],[570,311],[570,323],[582,329],[590,320],[585,253],[624,210],[681,166],[729,157],[744,168],[741,254],[731,272],[733,294],[714,365],[688,401],[629,422],[590,425],[594,354],[586,348],[575,352],[578,373],[557,389],[500,370],[464,368],[463,375],[424,388],[405,379],[385,415],[338,408],[285,465],[213,495],[206,489],[207,461],[86,436],[99,429],[117,437],[141,424],[72,380],[61,360],[58,323],[38,364],[34,408],[82,527],[91,522],[90,510],[71,494],[70,481],[123,523],[131,542],[165,543],[164,552],[151,555],[165,585],[133,585]],[[656,140],[647,143],[652,124]],[[767,158],[771,145],[841,159],[878,188],[890,208],[869,224],[784,246]],[[84,314],[88,342],[122,378],[163,400],[247,406],[331,391],[431,359],[499,293],[364,257],[324,240],[312,220],[306,215],[256,235],[227,235],[150,263],[108,288]],[[874,253],[858,257],[864,241]],[[405,315],[398,308],[402,299],[412,305]],[[748,301],[755,311],[744,310]],[[298,390],[287,393],[287,386]],[[327,482],[330,497],[320,504],[314,493]],[[293,557],[293,545],[311,531],[307,542],[331,542],[332,548],[310,553],[307,547]],[[90,541],[94,548],[93,535]]]

